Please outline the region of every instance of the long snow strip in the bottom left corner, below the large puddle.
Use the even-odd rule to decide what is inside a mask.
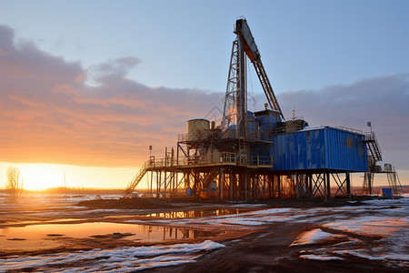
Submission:
[[[0,259],[0,271],[40,269],[43,272],[121,272],[142,270],[195,262],[195,259],[201,256],[200,252],[224,247],[222,244],[206,240],[200,244],[93,249],[75,253],[7,258]]]

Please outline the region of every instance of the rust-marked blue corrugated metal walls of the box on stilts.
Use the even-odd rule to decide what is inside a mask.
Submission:
[[[274,170],[366,171],[364,136],[334,127],[275,135],[270,153]]]

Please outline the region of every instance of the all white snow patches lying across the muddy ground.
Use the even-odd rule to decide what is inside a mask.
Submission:
[[[85,199],[85,197],[78,198]],[[146,219],[125,219],[123,223],[167,227],[209,227],[209,229],[218,230],[263,230],[272,225],[301,224],[305,227],[304,232],[290,245],[298,251],[298,258],[329,261],[354,257],[368,261],[384,261],[392,267],[408,267],[409,197],[374,199],[364,201],[364,205],[361,206],[355,206],[354,201],[350,203],[351,206],[347,207],[268,208],[217,217],[183,219],[147,217]],[[72,208],[76,211],[75,207]],[[78,210],[78,214],[92,211],[95,212],[95,210]],[[131,213],[129,209],[115,209],[112,212],[118,215]],[[39,212],[43,215],[46,213],[54,212]],[[33,257],[4,258],[0,259],[0,271],[42,268],[45,272],[95,270],[122,272],[191,263],[205,251],[224,247],[223,244],[206,240],[200,244],[93,249]]]

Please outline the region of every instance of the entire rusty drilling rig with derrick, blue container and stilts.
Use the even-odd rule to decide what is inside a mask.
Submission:
[[[309,127],[295,116],[285,120],[244,18],[236,20],[234,34],[221,124],[204,118],[187,121],[187,133],[178,136],[176,148],[166,148],[164,158],[150,157],[124,197],[131,197],[145,176],[156,197],[181,192],[224,200],[347,197],[354,172],[364,172],[372,188],[374,161],[380,159],[374,133]],[[246,60],[268,101],[254,113],[247,110]]]

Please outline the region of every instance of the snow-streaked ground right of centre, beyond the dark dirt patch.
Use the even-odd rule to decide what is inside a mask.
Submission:
[[[163,225],[207,225],[228,229],[261,228],[271,224],[305,223],[314,228],[304,232],[292,246],[320,244],[324,240],[342,240],[326,248],[309,249],[300,258],[343,259],[352,255],[358,258],[384,260],[394,266],[409,266],[409,198],[374,199],[363,206],[270,208],[237,215],[181,219],[154,222]],[[351,201],[354,205],[354,201]],[[128,222],[138,223],[138,220]],[[373,238],[377,248],[369,248],[359,238]],[[361,248],[362,247],[362,248]]]

